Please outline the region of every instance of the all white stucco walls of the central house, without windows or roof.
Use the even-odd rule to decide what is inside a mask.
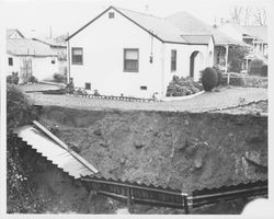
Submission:
[[[109,12],[115,13],[109,19]],[[151,35],[114,10],[110,10],[88,27],[69,39],[70,77],[75,87],[91,83],[91,91],[102,95],[151,97],[158,93],[163,97],[173,74],[190,76],[190,57],[201,51],[196,69],[213,66],[214,43],[209,45],[167,44],[153,38],[153,62],[149,62]],[[72,65],[72,47],[82,47],[83,65]],[[124,72],[124,48],[139,49],[139,72]],[[171,72],[171,49],[176,49],[176,71]],[[208,59],[209,50],[212,57]],[[198,80],[198,74],[194,79]],[[141,85],[147,91],[140,90]]]

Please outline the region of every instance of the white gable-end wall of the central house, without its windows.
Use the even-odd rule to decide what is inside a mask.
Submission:
[[[111,10],[112,11],[112,10]],[[70,48],[83,48],[83,65],[72,65],[70,77],[76,87],[91,83],[91,91],[102,95],[151,97],[161,92],[162,43],[153,38],[153,62],[149,62],[151,36],[114,11],[115,18],[103,14],[70,39]],[[139,49],[139,72],[124,72],[124,48]],[[147,91],[140,90],[141,85]]]

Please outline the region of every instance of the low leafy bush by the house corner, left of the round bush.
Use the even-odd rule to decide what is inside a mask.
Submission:
[[[172,81],[168,85],[167,96],[191,95],[201,90],[203,90],[203,87],[198,82],[193,81],[192,78],[173,76]]]

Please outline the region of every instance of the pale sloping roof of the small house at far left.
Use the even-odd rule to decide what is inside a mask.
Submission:
[[[57,56],[48,45],[26,38],[7,39],[7,53],[14,56]]]

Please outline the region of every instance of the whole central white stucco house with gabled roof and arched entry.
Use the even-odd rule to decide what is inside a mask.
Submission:
[[[164,97],[174,74],[199,79],[214,64],[212,34],[110,7],[68,38],[68,80],[103,95]]]

